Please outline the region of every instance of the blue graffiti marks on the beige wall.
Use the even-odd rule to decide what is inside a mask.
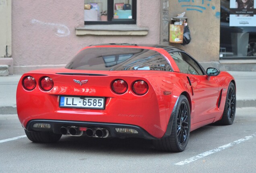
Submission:
[[[212,0],[202,0],[202,1],[200,1],[200,3],[201,3],[202,5],[204,5],[204,2],[205,2],[205,1],[212,1]],[[179,2],[179,3],[180,3],[180,2],[190,2],[190,3],[192,2],[192,3],[195,3],[194,0],[178,0],[178,2]],[[197,1],[197,2],[198,2],[198,1]],[[207,3],[206,6],[210,7],[211,4]],[[187,10],[187,11],[197,11],[197,12],[200,12],[200,13],[202,13],[204,10],[206,10],[206,7],[200,6],[200,5],[191,5],[191,4],[189,4],[189,5],[182,5],[181,7],[186,7],[186,10]],[[212,10],[215,10],[215,9],[216,9],[215,6],[211,6],[211,8],[212,8]],[[220,18],[220,12],[216,12],[216,13],[215,13],[215,16],[216,16],[217,18]]]

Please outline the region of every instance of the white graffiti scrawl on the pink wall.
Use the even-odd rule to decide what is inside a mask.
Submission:
[[[36,19],[31,20],[31,23],[53,27],[54,29],[56,29],[55,34],[60,37],[68,36],[70,34],[70,30],[64,24],[47,23]]]

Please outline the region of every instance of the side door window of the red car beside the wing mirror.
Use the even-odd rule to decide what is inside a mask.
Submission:
[[[170,52],[173,60],[176,62],[180,72],[186,74],[203,75],[203,72],[198,63],[183,52]]]

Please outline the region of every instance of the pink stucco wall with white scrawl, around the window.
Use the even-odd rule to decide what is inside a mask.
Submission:
[[[12,1],[14,74],[47,66],[63,66],[78,50],[90,44],[159,44],[158,0],[151,3],[137,1],[137,25],[149,28],[147,36],[76,36],[75,28],[84,26],[83,4],[84,0]]]

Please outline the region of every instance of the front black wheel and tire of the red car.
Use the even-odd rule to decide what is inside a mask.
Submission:
[[[235,95],[235,85],[233,82],[229,84],[227,90],[227,97],[225,102],[225,107],[223,115],[219,124],[221,125],[231,125],[235,119],[235,108],[236,108],[236,95]]]

